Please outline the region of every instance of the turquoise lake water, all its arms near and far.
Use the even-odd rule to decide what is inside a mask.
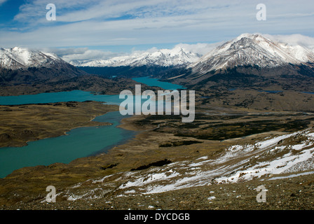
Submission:
[[[168,87],[165,90],[175,90],[179,85],[160,82],[153,78],[141,78],[146,85]],[[179,87],[178,87],[179,86]],[[118,95],[100,95],[81,90],[71,92],[50,92],[13,97],[0,97],[1,105],[44,104],[54,102],[84,102],[93,100],[107,104],[120,104],[124,99]],[[109,122],[112,125],[102,127],[78,127],[67,135],[31,141],[23,147],[0,148],[0,178],[11,174],[15,169],[50,165],[55,162],[69,163],[77,158],[83,158],[99,153],[106,153],[110,148],[132,139],[136,132],[118,128],[123,118],[119,111],[109,112],[98,116],[95,121]]]

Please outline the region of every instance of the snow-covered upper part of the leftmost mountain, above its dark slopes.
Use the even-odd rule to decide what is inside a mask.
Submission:
[[[67,64],[52,53],[44,53],[27,48],[0,48],[0,66],[4,69],[27,69],[29,67],[51,67],[55,64]]]

